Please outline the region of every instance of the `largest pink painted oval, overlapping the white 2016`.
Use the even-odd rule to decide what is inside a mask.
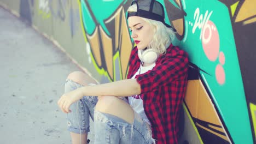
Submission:
[[[206,57],[216,61],[219,54],[219,33],[212,21],[208,21],[202,28],[202,46]]]

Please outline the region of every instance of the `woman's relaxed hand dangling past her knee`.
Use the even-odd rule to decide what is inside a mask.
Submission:
[[[69,107],[71,104],[73,104],[75,101],[83,98],[83,92],[81,88],[75,89],[74,91],[65,93],[61,96],[61,98],[58,100],[58,105],[60,109],[65,112],[71,112],[69,110]]]

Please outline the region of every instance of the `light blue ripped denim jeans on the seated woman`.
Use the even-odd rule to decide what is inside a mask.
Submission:
[[[83,86],[67,79],[65,93],[79,87]],[[95,143],[155,143],[150,125],[143,121],[138,113],[134,112],[135,119],[130,124],[117,116],[95,111],[97,101],[97,97],[86,96],[70,106],[72,112],[67,114],[68,131],[77,134],[88,133],[91,117],[94,121]]]

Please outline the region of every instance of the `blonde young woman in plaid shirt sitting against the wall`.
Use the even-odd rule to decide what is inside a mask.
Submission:
[[[67,114],[72,143],[86,143],[89,116],[95,143],[177,143],[179,108],[187,87],[188,55],[171,44],[173,28],[157,1],[128,9],[136,43],[126,80],[96,85],[88,75],[68,75],[58,101]]]

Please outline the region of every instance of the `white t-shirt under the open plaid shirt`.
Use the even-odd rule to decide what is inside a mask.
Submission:
[[[149,70],[152,70],[155,67],[155,63],[148,65],[146,67],[141,66],[138,71],[135,73],[135,75],[132,76],[131,79],[135,79],[136,75],[144,74]],[[143,100],[141,99],[140,95],[132,95],[131,97],[128,97],[129,104],[131,105],[132,109],[136,111],[144,121],[146,121],[148,124],[150,124],[148,117],[144,111],[143,107]]]

